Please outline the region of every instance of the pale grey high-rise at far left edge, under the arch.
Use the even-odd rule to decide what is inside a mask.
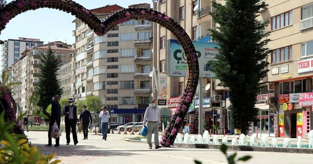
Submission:
[[[2,69],[6,69],[17,62],[26,48],[32,48],[43,44],[44,41],[40,41],[40,39],[22,37],[19,39],[8,39],[4,41],[1,54]]]

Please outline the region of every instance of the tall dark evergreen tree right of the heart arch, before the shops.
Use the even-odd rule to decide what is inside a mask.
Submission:
[[[212,2],[216,12],[210,13],[220,26],[210,29],[214,41],[220,45],[219,60],[213,63],[213,71],[221,80],[220,86],[231,91],[230,116],[234,128],[246,134],[249,122],[258,121],[255,116],[257,92],[260,82],[268,73],[266,47],[269,33],[268,21],[257,21],[260,9],[267,5],[260,0],[225,0],[226,5]]]

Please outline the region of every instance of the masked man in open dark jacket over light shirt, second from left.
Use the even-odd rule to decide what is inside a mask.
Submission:
[[[73,104],[73,99],[68,99],[68,104],[65,105],[62,114],[65,116],[65,133],[67,137],[67,145],[70,142],[70,132],[72,132],[74,144],[78,143],[77,133],[76,133],[76,123],[77,123],[77,106]]]

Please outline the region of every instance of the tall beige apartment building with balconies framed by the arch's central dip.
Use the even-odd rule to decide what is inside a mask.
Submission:
[[[150,8],[150,4],[134,4]],[[122,9],[107,5],[90,11],[99,19]],[[131,20],[115,26],[104,36],[96,36],[79,19],[73,21],[75,42],[75,99],[99,96],[112,109],[112,122],[139,122],[145,109],[137,104],[151,100],[151,23]],[[87,107],[88,108],[88,107]]]

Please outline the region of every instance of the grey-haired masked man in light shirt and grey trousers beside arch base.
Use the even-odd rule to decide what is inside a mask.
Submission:
[[[152,132],[155,134],[156,149],[162,146],[158,143],[158,127],[161,126],[160,109],[156,106],[156,100],[151,101],[151,106],[148,106],[143,117],[143,125],[147,124],[148,135],[147,142],[149,149],[152,149]]]

